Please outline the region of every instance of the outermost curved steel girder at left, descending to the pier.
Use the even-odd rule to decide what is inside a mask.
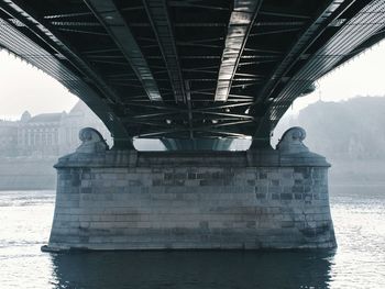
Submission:
[[[58,59],[52,55],[52,51],[44,49],[2,19],[0,19],[0,46],[54,77],[72,93],[85,101],[111,132],[116,147],[134,149],[132,137],[105,99],[105,97],[110,97],[110,101],[113,101],[117,96],[111,96],[109,91],[103,90],[103,82],[98,82],[99,76],[95,75],[95,71],[88,74],[90,68],[87,64],[81,62],[76,53],[66,46],[65,43],[62,43],[56,35],[48,33],[43,23],[37,22],[36,15],[28,14],[25,10],[22,10],[21,7],[15,5],[13,2],[7,1],[6,4],[7,7],[0,3],[0,10],[7,11],[10,16],[18,19],[20,16],[20,21],[23,21],[25,27],[29,27],[32,33],[36,33],[40,40],[50,45],[51,49],[65,54],[68,57],[65,58],[66,63],[69,62],[72,66],[65,65],[62,58]],[[11,11],[10,8],[14,10]],[[25,19],[21,18],[21,14]],[[43,32],[48,33],[48,35],[44,35]],[[35,57],[35,55],[40,57]],[[85,81],[86,76],[92,79],[94,86]]]

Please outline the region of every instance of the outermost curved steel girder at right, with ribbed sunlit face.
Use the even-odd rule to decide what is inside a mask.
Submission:
[[[350,3],[354,1],[350,1]],[[349,5],[345,7],[345,9],[348,8]],[[338,13],[334,19],[338,19],[343,11]],[[362,43],[365,43],[366,40],[384,29],[384,11],[385,2],[383,0],[371,1],[371,3],[355,11],[354,15],[345,21],[334,35],[322,43],[322,46],[318,47],[318,49],[307,58],[304,66],[294,76],[290,76],[285,87],[279,90],[279,93],[267,108],[254,136],[261,135],[260,132],[263,131],[263,127],[270,126],[270,129],[273,130],[277,121],[300,92],[315,80],[339,65],[341,59],[350,55],[356,47],[360,47]],[[330,14],[327,19],[328,23],[333,21]],[[316,37],[315,35],[314,38]],[[334,52],[338,52],[338,54],[334,54]],[[285,104],[283,105],[282,103]]]

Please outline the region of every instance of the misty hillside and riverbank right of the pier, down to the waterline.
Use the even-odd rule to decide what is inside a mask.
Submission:
[[[305,144],[332,164],[331,185],[385,184],[385,97],[318,101],[297,118],[284,118],[274,138],[302,126]]]

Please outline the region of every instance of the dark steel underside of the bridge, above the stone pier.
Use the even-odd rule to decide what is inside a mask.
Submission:
[[[318,78],[385,36],[384,11],[383,0],[0,0],[0,47],[82,99],[117,148],[133,137],[257,148]]]

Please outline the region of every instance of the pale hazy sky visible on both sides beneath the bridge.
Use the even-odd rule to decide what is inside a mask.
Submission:
[[[385,42],[377,44],[318,81],[318,89],[297,99],[289,113],[295,113],[321,98],[340,101],[355,96],[385,96]],[[29,110],[68,111],[77,101],[52,77],[25,62],[0,51],[0,118],[19,118]]]

